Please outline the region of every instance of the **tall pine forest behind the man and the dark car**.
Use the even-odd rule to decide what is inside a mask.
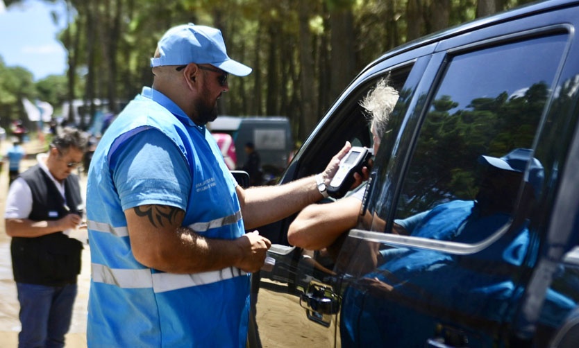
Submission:
[[[53,2],[46,0],[47,2]],[[17,0],[4,0],[6,6]],[[65,0],[67,26],[58,40],[67,73],[34,81],[0,57],[0,126],[27,124],[23,98],[85,101],[91,117],[100,99],[110,112],[152,82],[150,60],[168,28],[192,22],[221,29],[228,55],[253,68],[228,79],[219,114],[287,116],[294,140],[319,119],[367,64],[389,49],[528,0]],[[58,21],[54,13],[53,18]],[[72,119],[72,117],[71,117]],[[91,120],[81,119],[87,129]]]

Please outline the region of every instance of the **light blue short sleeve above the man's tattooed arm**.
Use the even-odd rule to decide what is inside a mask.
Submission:
[[[143,130],[124,141],[110,166],[123,210],[140,205],[186,209],[192,184],[189,165],[160,130]]]

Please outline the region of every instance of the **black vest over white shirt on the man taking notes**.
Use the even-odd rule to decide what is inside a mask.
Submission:
[[[34,221],[58,220],[69,213],[78,213],[82,204],[78,176],[65,180],[65,200],[40,166],[36,165],[20,175],[32,192],[32,211],[28,218]],[[68,207],[68,210],[67,210]],[[81,272],[83,243],[62,232],[35,238],[12,237],[12,270],[19,283],[46,286],[76,284]]]

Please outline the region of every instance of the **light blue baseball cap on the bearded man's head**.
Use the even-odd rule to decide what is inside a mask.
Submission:
[[[211,64],[235,76],[246,76],[251,68],[227,55],[221,31],[209,26],[182,24],[170,28],[159,40],[159,58],[151,58],[151,67]]]

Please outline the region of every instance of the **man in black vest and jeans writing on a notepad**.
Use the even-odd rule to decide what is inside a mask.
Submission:
[[[72,171],[86,143],[78,130],[65,129],[8,191],[4,218],[20,304],[19,347],[65,345],[83,249],[65,233],[82,221],[81,186]]]

